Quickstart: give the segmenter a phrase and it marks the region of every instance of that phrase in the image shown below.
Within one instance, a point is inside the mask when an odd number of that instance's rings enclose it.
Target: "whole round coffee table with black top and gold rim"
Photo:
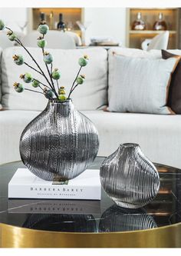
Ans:
[[[100,168],[97,157],[91,168]],[[156,164],[160,191],[144,208],[101,201],[8,199],[8,182],[21,161],[0,166],[0,247],[181,247],[181,170]]]

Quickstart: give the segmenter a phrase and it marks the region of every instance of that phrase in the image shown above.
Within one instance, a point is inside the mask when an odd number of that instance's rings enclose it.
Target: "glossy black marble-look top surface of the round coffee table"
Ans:
[[[90,169],[100,168],[97,157]],[[181,170],[155,164],[160,191],[140,209],[120,208],[102,190],[101,201],[8,199],[8,182],[24,165],[0,166],[0,223],[21,228],[64,232],[139,231],[181,222]],[[91,171],[91,170],[90,170]]]

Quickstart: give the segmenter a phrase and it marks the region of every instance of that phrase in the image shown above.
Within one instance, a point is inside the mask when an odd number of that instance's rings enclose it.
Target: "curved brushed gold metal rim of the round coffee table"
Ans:
[[[181,223],[145,231],[66,233],[0,224],[0,248],[180,248]]]

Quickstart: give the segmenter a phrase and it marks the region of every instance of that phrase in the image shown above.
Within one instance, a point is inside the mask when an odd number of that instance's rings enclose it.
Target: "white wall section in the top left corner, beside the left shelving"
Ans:
[[[21,32],[19,26],[24,25],[28,18],[28,8],[0,8],[0,19],[15,32]]]

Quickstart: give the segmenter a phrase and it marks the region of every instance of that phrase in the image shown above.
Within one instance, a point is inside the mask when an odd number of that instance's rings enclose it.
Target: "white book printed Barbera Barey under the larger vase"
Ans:
[[[44,181],[27,168],[18,168],[8,184],[8,198],[100,200],[98,169],[87,169],[65,182]]]

